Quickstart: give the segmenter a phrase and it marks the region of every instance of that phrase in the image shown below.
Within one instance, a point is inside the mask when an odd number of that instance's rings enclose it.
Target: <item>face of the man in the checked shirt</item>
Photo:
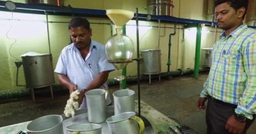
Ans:
[[[240,22],[238,20],[238,12],[230,7],[228,3],[222,3],[216,6],[216,19],[218,27],[224,30],[231,29]]]

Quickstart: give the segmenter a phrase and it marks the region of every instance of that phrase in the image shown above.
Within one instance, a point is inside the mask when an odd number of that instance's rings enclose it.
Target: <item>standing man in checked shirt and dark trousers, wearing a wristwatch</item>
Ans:
[[[207,133],[246,133],[256,114],[256,30],[243,19],[248,0],[217,0],[224,29],[212,50],[212,67],[197,101],[206,107]]]

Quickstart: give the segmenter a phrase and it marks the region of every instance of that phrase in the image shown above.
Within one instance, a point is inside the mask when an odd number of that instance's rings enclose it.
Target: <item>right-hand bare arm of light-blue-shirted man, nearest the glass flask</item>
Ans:
[[[86,89],[84,89],[80,92],[79,98],[78,98],[79,105],[82,104],[82,101],[83,101],[86,91],[95,89],[95,88],[100,88],[100,86],[102,86],[102,84],[104,84],[104,82],[106,82],[106,80],[108,80],[108,71],[100,72],[100,74],[98,74],[94,78],[94,80],[92,80],[92,82],[90,82],[90,84],[88,84],[88,86],[86,86]]]

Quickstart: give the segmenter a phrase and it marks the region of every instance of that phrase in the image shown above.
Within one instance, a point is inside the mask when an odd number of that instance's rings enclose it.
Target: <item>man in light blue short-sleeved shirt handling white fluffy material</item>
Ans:
[[[69,92],[79,90],[79,108],[86,107],[85,92],[94,88],[108,88],[108,73],[115,70],[108,63],[105,48],[91,39],[92,29],[87,19],[75,17],[68,25],[73,43],[61,51],[55,72],[60,84]],[[110,105],[110,96],[106,97],[106,105]]]

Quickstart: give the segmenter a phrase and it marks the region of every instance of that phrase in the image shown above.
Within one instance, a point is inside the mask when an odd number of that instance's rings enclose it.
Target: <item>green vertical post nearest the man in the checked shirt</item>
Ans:
[[[197,39],[196,39],[196,44],[195,44],[194,78],[198,78],[198,76],[199,76],[200,52],[201,52],[201,23],[197,23]]]

